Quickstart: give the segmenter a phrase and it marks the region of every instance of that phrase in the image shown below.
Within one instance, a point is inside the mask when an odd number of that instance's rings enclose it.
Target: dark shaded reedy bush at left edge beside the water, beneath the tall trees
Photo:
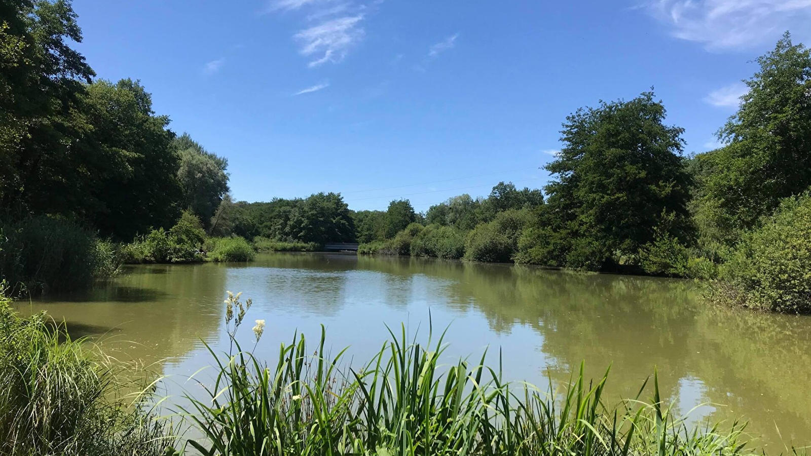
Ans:
[[[8,282],[11,295],[86,288],[118,271],[111,247],[66,219],[0,219],[0,279]]]

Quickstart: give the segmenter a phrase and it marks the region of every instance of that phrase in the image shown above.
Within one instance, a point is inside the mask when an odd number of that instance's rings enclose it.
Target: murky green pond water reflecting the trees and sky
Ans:
[[[87,295],[39,301],[71,331],[105,335],[127,356],[167,359],[182,378],[210,363],[202,341],[225,350],[225,290],[254,300],[268,327],[256,353],[271,356],[298,329],[327,327],[333,348],[365,360],[388,336],[450,325],[448,354],[487,347],[512,380],[565,381],[586,361],[611,365],[609,397],[633,396],[654,368],[660,387],[694,419],[751,420],[749,432],[779,441],[811,438],[811,319],[715,308],[692,282],[566,273],[511,265],[407,257],[273,254],[244,265],[141,265]],[[252,343],[252,342],[250,342]],[[495,355],[497,356],[497,355]],[[496,358],[493,357],[495,362]],[[782,447],[779,447],[782,449]]]

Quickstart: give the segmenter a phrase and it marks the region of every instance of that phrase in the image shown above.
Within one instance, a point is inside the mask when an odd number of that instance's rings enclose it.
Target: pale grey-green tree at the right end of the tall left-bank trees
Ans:
[[[208,152],[198,142],[183,133],[174,139],[180,167],[178,181],[182,187],[181,204],[191,210],[203,225],[210,227],[212,217],[228,191],[228,160]]]

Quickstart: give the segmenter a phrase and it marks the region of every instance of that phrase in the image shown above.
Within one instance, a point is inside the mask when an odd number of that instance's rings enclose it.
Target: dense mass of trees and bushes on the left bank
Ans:
[[[71,3],[0,3],[0,274],[12,292],[70,290],[128,260],[195,260],[189,209],[230,234],[227,161],[152,110],[130,79],[93,80]],[[72,222],[67,222],[72,221]],[[216,225],[215,225],[216,222]],[[174,226],[174,228],[170,228]]]

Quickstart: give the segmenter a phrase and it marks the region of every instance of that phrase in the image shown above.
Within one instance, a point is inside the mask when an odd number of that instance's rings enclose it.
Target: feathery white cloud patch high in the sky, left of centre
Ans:
[[[363,39],[365,32],[358,25],[362,20],[363,15],[339,17],[296,33],[296,40],[302,43],[301,53],[315,58],[307,66],[341,62],[349,49]]]

